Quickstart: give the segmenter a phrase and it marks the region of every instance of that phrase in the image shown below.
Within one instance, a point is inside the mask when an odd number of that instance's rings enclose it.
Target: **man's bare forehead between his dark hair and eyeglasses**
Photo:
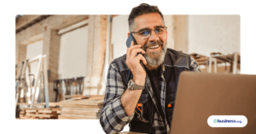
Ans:
[[[157,26],[164,26],[161,16],[158,13],[151,13],[151,14],[143,14],[140,16],[137,16],[134,19],[136,23],[136,30],[139,31],[141,29],[152,29]]]

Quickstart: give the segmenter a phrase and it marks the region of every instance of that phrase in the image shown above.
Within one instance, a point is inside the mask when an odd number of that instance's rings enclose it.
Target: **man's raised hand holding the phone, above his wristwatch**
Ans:
[[[127,64],[128,68],[133,74],[133,81],[135,81],[137,85],[144,86],[146,72],[143,70],[143,67],[140,64],[140,60],[143,61],[143,64],[147,64],[147,62],[142,54],[137,55],[137,53],[145,53],[141,47],[143,46],[134,45],[134,42],[131,42],[131,47],[127,48],[125,64]]]

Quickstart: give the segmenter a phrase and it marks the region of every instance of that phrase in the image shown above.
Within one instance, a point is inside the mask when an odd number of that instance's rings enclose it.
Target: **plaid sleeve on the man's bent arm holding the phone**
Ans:
[[[110,64],[108,68],[107,85],[104,103],[102,106],[100,125],[105,134],[123,131],[134,116],[128,116],[121,103],[121,96],[127,87],[122,81],[116,64]]]

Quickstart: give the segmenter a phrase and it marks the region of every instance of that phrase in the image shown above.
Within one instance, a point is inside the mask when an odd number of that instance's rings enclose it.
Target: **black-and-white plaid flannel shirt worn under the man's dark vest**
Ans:
[[[193,59],[190,56],[191,63],[190,63],[190,69],[195,72],[201,72],[200,68],[198,67],[198,64],[196,63],[195,59]],[[164,71],[165,71],[165,65],[161,64],[161,93],[160,93],[160,100],[161,100],[161,107],[165,114],[165,100],[166,100],[166,81],[164,79]],[[150,80],[148,78],[148,75],[146,77],[146,84],[148,85],[148,93],[151,97],[154,97],[152,87]],[[117,64],[114,64],[113,62],[109,65],[108,69],[108,76],[107,76],[107,85],[106,85],[106,92],[105,92],[105,98],[104,103],[102,106],[101,111],[101,117],[99,120],[99,123],[101,124],[102,131],[106,134],[113,134],[117,133],[119,131],[123,131],[125,129],[125,126],[129,124],[129,122],[133,119],[133,114],[131,116],[128,116],[125,113],[125,109],[123,105],[121,104],[121,96],[125,92],[127,87],[125,87],[125,84],[122,81],[122,76],[119,74],[119,68],[117,67]],[[153,103],[156,105],[155,98],[153,98]],[[159,110],[159,109],[157,109]],[[166,114],[165,114],[166,116]],[[165,117],[166,118],[166,117]],[[170,132],[170,126],[168,126],[166,122],[166,128],[164,126],[164,121],[161,118],[160,114],[157,112],[154,113],[154,123],[153,123],[153,131],[157,134],[162,134],[166,132]]]

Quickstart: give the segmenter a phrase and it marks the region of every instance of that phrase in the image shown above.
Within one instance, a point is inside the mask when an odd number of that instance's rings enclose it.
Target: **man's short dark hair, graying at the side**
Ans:
[[[148,4],[148,3],[139,3],[137,6],[131,8],[129,18],[128,18],[129,31],[131,32],[136,29],[136,24],[134,23],[134,19],[137,16],[143,15],[143,14],[150,14],[150,13],[160,14],[162,21],[165,24],[163,12],[160,10],[158,5]]]

